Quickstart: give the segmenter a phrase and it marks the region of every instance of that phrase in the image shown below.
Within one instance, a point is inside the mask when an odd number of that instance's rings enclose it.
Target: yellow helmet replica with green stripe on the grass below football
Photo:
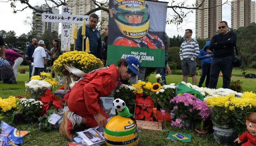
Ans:
[[[137,146],[139,135],[137,125],[131,118],[114,116],[105,127],[107,146]]]

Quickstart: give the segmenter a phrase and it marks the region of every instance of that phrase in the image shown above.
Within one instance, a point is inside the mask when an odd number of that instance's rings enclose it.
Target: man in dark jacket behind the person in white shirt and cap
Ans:
[[[29,64],[29,80],[32,76],[32,71],[33,71],[32,62],[34,62],[34,60],[32,55],[36,47],[37,47],[37,39],[32,39],[32,43],[26,47],[26,51],[25,51],[25,57],[27,59],[27,63]]]

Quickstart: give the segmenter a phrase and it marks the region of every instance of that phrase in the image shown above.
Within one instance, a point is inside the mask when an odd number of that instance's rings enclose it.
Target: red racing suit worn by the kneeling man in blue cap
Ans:
[[[85,74],[65,95],[71,112],[85,117],[87,127],[98,126],[93,115],[100,112],[106,118],[109,115],[100,107],[100,97],[114,93],[118,83],[119,71],[114,64],[107,69]]]

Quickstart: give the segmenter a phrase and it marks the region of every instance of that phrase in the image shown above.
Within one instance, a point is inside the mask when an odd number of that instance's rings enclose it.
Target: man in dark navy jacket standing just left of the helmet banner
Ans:
[[[101,34],[100,31],[96,28],[98,24],[98,15],[91,14],[89,16],[89,24],[85,26],[85,37],[88,37],[90,44],[90,54],[93,54],[97,58],[102,59],[101,55]],[[77,31],[77,39],[76,39],[76,50],[82,51],[82,26]],[[85,38],[84,38],[85,39]],[[86,42],[84,41],[84,46]],[[84,49],[85,50],[85,49]]]

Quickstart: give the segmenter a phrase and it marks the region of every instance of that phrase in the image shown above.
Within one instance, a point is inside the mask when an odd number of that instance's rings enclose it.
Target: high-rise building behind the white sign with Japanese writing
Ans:
[[[44,13],[53,13],[53,14],[59,14],[60,10],[55,8],[49,8],[46,4],[42,4],[41,6],[35,6],[38,10],[49,10],[48,12]],[[56,31],[59,30],[59,23],[57,22],[42,22],[41,13],[36,12],[33,10],[33,17],[32,17],[32,30],[36,33],[36,36],[42,36],[42,34],[45,33],[46,30]]]

